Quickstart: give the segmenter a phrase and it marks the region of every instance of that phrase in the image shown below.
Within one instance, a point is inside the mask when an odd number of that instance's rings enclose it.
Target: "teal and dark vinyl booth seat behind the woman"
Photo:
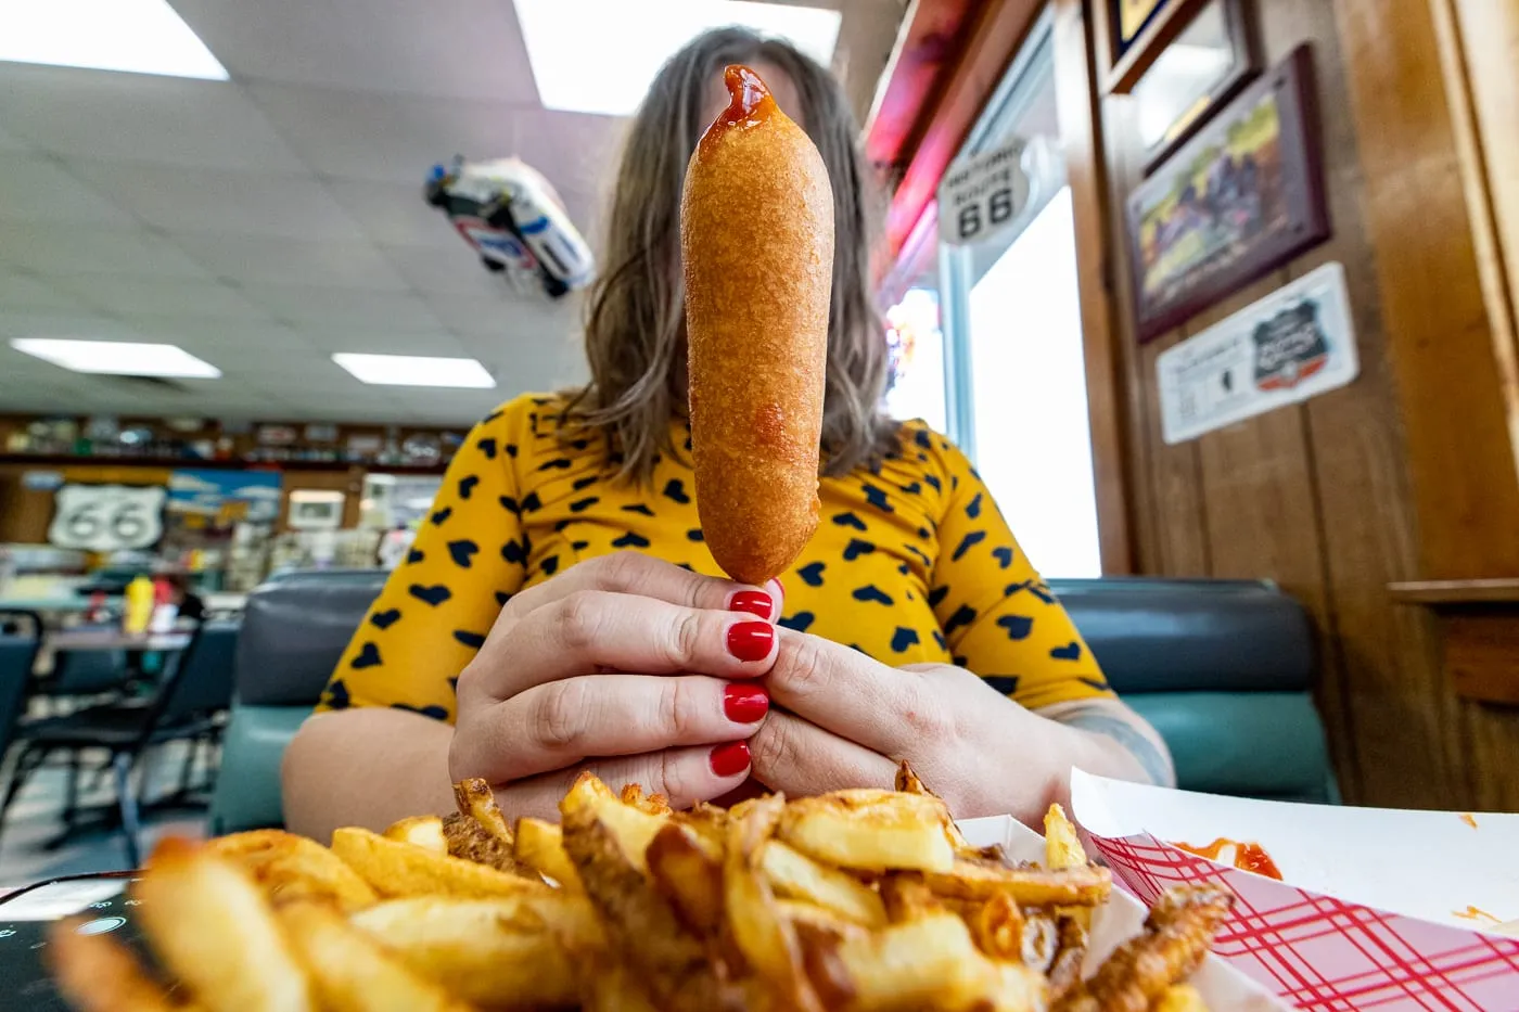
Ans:
[[[296,573],[248,600],[211,831],[281,824],[279,760],[386,573]],[[1271,583],[1051,580],[1126,702],[1165,737],[1179,786],[1335,802],[1312,702],[1308,615]]]

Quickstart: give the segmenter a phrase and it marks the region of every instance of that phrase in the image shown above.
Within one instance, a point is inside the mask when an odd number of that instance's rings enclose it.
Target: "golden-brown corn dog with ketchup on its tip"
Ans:
[[[834,202],[807,134],[747,67],[681,202],[691,456],[708,549],[735,580],[784,571],[817,527]]]

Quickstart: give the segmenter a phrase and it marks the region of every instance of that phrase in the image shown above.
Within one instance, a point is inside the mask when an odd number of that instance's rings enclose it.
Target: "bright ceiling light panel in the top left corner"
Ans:
[[[169,0],[0,0],[0,59],[226,81]]]

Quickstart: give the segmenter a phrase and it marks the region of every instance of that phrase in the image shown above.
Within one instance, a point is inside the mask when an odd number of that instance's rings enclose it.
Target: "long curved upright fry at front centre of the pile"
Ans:
[[[796,930],[781,915],[770,883],[761,872],[761,854],[784,810],[785,796],[770,795],[728,825],[723,863],[728,933],[749,969],[778,995],[781,1007],[822,1012],[823,1004],[802,962]]]

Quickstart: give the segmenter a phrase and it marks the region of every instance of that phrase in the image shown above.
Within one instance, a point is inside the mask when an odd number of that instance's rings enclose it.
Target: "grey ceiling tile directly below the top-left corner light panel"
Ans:
[[[94,161],[301,172],[299,158],[226,81],[0,64],[0,115],[35,147]]]

